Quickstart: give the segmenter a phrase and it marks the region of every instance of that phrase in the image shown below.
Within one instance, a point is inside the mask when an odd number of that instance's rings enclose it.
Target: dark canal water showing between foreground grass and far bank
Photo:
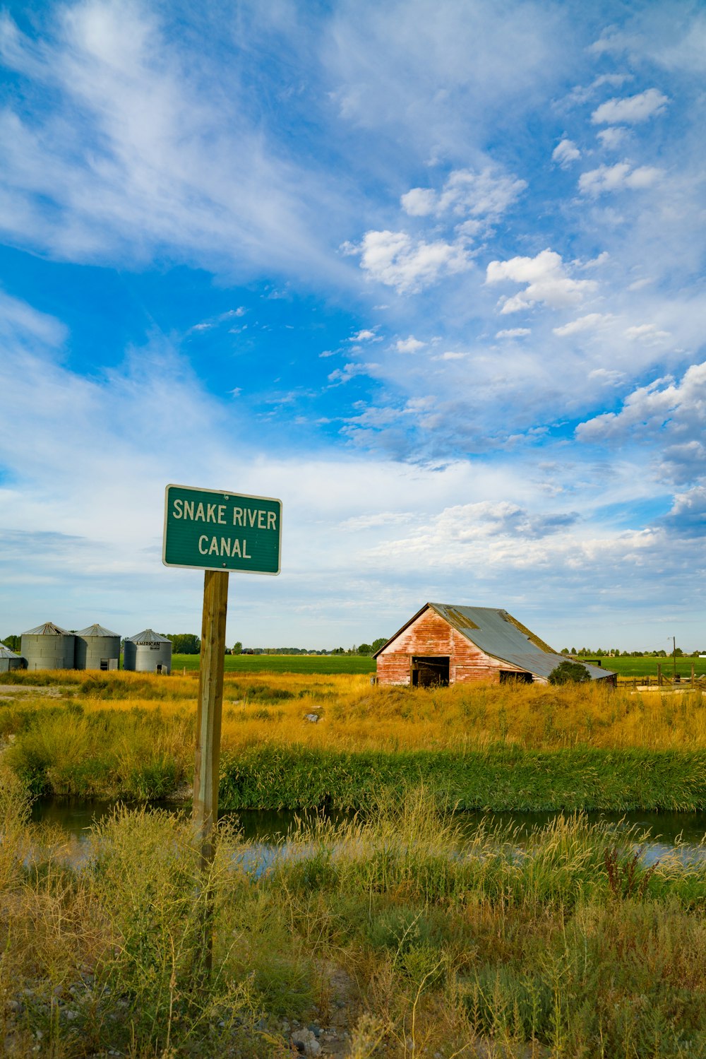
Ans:
[[[32,808],[33,821],[54,824],[78,841],[86,840],[92,825],[99,822],[114,810],[114,802],[77,802],[67,798],[40,798]],[[169,812],[189,810],[175,807],[174,804],[156,806]],[[241,829],[243,838],[258,845],[274,846],[286,838],[287,832],[295,826],[296,820],[314,820],[315,813],[307,816],[302,811],[293,810],[248,810],[227,814]],[[559,812],[463,812],[454,818],[454,823],[460,826],[463,833],[469,840],[483,821],[486,824],[499,824],[503,827],[517,829],[519,843],[532,828],[543,827],[550,823]],[[676,844],[691,848],[701,846],[701,852],[706,856],[706,812],[589,812],[591,823],[603,821],[619,825],[628,830],[649,831],[650,839],[646,843],[648,859],[663,856],[673,849]],[[327,815],[325,819],[333,823],[349,820],[345,813]],[[651,856],[650,856],[651,855]]]

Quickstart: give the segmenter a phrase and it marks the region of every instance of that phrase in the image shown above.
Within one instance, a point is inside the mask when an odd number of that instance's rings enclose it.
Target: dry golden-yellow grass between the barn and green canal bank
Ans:
[[[168,680],[123,672],[95,680],[76,674],[71,680],[77,686],[65,686],[85,716],[158,711],[165,750],[171,751],[193,723],[196,674]],[[57,704],[43,689],[36,692],[34,708]],[[25,708],[30,704],[24,697],[16,700],[20,702]],[[305,720],[307,714],[316,714],[319,721]],[[78,729],[80,718],[75,723]],[[237,675],[224,681],[225,750],[263,743],[347,751],[472,750],[497,742],[532,749],[706,748],[706,702],[698,689],[673,695],[585,684],[411,690],[370,686],[366,676],[301,674]]]

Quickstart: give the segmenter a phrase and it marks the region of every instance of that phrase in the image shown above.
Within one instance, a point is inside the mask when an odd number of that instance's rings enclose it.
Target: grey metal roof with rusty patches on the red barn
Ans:
[[[497,610],[494,607],[461,607],[448,603],[424,604],[421,610],[387,641],[387,644],[396,640],[400,632],[403,632],[428,607],[432,607],[486,654],[501,662],[509,662],[510,665],[518,666],[536,677],[546,679],[560,662],[567,660],[566,654],[559,654],[553,650],[506,610]],[[384,644],[380,651],[384,650],[387,644]],[[380,651],[376,651],[374,658],[377,658]],[[592,680],[613,676],[612,670],[603,669],[601,666],[589,665],[586,662],[581,664],[585,666]]]

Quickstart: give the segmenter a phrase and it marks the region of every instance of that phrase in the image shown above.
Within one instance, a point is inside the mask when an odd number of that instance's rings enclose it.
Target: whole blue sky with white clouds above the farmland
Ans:
[[[689,2],[6,4],[0,634],[197,631],[176,482],[283,500],[233,641],[706,648],[705,68]]]

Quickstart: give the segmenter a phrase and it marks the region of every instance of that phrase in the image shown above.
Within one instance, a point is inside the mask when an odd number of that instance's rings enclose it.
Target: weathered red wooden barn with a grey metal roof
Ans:
[[[546,684],[567,656],[553,650],[506,610],[426,603],[374,658],[379,683],[429,687],[479,680]],[[585,669],[592,680],[616,681],[610,669]]]

